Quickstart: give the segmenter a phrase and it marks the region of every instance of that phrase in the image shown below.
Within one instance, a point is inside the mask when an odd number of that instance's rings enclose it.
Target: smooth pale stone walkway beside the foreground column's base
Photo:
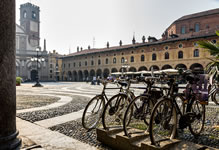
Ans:
[[[96,150],[97,148],[78,140],[65,136],[59,132],[51,131],[34,123],[17,118],[19,137],[26,146],[34,150]]]

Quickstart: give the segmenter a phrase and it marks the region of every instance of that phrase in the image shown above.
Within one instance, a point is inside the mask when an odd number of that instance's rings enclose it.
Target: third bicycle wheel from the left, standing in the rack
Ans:
[[[153,104],[148,96],[137,96],[132,100],[125,112],[123,120],[125,135],[132,137],[136,134],[144,134],[149,127],[152,109]]]

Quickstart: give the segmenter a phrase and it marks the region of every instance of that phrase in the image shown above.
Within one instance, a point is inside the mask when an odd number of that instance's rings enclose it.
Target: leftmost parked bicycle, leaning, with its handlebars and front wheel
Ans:
[[[124,86],[121,85],[119,88],[106,88],[106,85],[112,82],[108,82],[105,80],[100,80],[100,82],[103,84],[101,94],[96,95],[88,102],[82,115],[82,126],[87,130],[95,129],[102,117],[105,104],[107,101],[109,101],[108,97],[106,96],[105,90],[119,89],[119,91],[121,92]]]

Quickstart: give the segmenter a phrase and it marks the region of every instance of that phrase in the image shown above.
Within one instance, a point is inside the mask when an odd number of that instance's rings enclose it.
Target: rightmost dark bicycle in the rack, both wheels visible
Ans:
[[[205,105],[200,104],[200,95],[193,91],[194,84],[197,84],[197,79],[190,78],[187,85],[187,99],[183,101],[185,112],[182,112],[176,102],[175,93],[178,92],[178,84],[174,79],[169,80],[168,95],[161,98],[152,110],[149,124],[152,145],[160,146],[161,142],[174,139],[178,125],[180,129],[189,127],[194,136],[201,133],[205,122]],[[177,120],[178,116],[180,117],[179,121]]]

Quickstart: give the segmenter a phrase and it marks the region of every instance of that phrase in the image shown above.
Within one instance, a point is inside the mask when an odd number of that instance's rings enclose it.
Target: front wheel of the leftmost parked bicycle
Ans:
[[[102,95],[97,95],[88,102],[82,116],[82,125],[85,129],[90,130],[96,128],[104,107],[105,100]]]

